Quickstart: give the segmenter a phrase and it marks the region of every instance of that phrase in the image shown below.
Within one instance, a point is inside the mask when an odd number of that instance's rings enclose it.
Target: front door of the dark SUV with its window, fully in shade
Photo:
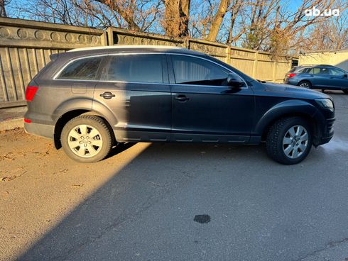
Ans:
[[[215,62],[190,55],[170,56],[171,140],[248,142],[254,119],[253,91],[246,85],[228,87],[231,72]]]

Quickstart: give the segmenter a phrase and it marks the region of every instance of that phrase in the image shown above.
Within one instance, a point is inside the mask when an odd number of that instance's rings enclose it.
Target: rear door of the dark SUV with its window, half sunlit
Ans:
[[[118,141],[169,140],[171,96],[165,55],[109,55],[93,110],[107,115]]]

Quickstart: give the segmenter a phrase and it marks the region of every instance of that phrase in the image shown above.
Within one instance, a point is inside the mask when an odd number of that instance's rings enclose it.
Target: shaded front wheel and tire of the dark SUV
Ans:
[[[299,127],[302,127],[303,131]],[[291,129],[295,136],[291,135]],[[312,134],[310,126],[301,117],[281,118],[273,123],[268,130],[266,150],[268,156],[276,162],[285,165],[297,164],[307,157],[311,147]]]

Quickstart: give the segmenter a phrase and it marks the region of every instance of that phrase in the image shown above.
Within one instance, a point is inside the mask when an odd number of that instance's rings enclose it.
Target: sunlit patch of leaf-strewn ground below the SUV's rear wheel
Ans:
[[[2,131],[0,260],[13,260],[27,250],[146,146],[135,145],[117,160],[83,165],[22,128]]]

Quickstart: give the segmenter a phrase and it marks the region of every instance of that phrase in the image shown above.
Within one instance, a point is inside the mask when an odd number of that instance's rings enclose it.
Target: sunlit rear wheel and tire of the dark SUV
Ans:
[[[62,148],[77,162],[97,162],[107,157],[112,148],[112,135],[107,124],[97,116],[72,118],[60,135]]]

